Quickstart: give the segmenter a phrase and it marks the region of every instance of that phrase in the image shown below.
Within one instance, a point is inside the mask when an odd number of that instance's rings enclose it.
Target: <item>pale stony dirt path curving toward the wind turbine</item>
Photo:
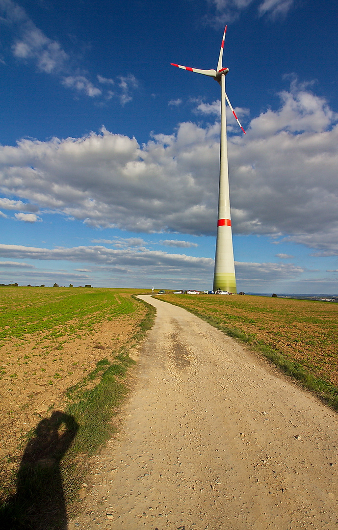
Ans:
[[[77,528],[337,530],[337,415],[209,324],[150,296],[119,441]]]

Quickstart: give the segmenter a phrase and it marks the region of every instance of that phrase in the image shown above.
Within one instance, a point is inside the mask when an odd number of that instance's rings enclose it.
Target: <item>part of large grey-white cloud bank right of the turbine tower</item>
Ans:
[[[247,139],[230,143],[234,226],[327,248],[338,234],[337,114],[295,82],[280,98],[277,111],[251,121]]]

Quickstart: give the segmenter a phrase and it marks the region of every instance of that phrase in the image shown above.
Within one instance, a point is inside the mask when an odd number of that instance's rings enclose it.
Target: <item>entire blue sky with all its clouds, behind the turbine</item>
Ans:
[[[0,0],[0,283],[338,294],[338,4]]]

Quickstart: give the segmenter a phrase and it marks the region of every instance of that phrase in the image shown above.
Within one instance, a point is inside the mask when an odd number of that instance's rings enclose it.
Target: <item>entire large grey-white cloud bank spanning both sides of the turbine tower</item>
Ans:
[[[295,78],[279,96],[279,108],[252,119],[246,137],[236,123],[238,134],[228,136],[233,231],[336,253],[338,115]],[[180,123],[144,145],[104,128],[82,138],[24,139],[0,146],[2,207],[32,211],[21,201],[93,227],[210,235],[218,165],[218,119]]]

